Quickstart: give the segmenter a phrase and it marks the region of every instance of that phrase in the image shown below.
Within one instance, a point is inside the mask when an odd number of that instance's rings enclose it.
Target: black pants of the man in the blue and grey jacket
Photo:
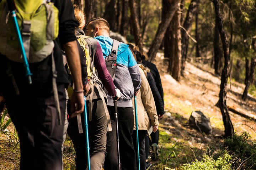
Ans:
[[[120,159],[122,170],[136,169],[136,156],[133,147],[133,107],[118,107],[118,132]],[[107,155],[105,158],[105,170],[118,170],[116,123],[114,107],[108,106],[112,131],[107,133]],[[136,145],[136,144],[135,144]]]

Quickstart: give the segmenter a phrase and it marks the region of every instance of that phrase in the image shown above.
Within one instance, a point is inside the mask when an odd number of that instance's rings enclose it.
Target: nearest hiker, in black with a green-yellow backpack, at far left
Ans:
[[[29,53],[27,57],[33,74],[32,84],[25,77],[14,25],[6,24],[6,22],[13,23],[11,14],[6,21],[8,6],[6,1],[1,1],[0,79],[4,83],[0,84],[0,92],[5,98],[8,113],[20,138],[20,169],[62,170],[61,146],[66,108],[64,88],[69,81],[63,66],[61,47],[66,52],[75,85],[71,98],[71,117],[80,114],[84,109],[81,67],[74,35],[74,28],[77,26],[74,9],[70,0],[54,0],[56,8],[52,3],[42,4],[44,3],[42,1],[15,0],[14,2],[17,7],[18,23],[23,23],[27,28],[21,29],[22,37],[24,40],[30,40],[23,44],[26,45],[24,45],[26,53]],[[41,5],[48,8],[40,8]],[[30,18],[31,12],[28,11],[31,10],[41,15],[40,17],[33,15],[30,29],[29,21],[23,22],[20,16]],[[59,15],[54,15],[58,11]],[[47,19],[41,21],[41,17],[45,14]],[[11,37],[12,41],[4,41],[6,37]],[[44,38],[50,43],[47,44],[48,46],[45,46]],[[43,47],[45,47],[44,51],[39,51]],[[57,83],[55,73],[57,73]],[[55,89],[56,84],[57,89]]]

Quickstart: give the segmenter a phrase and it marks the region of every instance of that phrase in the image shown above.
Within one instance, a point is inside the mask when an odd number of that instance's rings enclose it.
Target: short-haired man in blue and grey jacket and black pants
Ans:
[[[110,26],[106,19],[94,18],[88,22],[86,34],[95,37],[102,47],[104,58],[110,53],[113,39],[109,37]],[[134,92],[138,92],[141,85],[141,75],[139,66],[133,58],[132,51],[128,45],[119,43],[117,51],[117,67],[114,77],[114,85],[121,91],[118,106],[118,132],[120,145],[120,159],[122,170],[136,169],[136,156],[133,147],[133,105],[132,98]],[[110,113],[112,131],[107,133],[107,154],[104,169],[117,170],[117,144],[116,125],[114,119],[114,104],[111,96],[108,95],[107,103]]]

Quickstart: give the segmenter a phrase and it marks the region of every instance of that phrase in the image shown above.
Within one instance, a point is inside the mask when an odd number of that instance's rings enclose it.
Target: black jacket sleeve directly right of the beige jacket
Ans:
[[[153,97],[154,97],[156,111],[157,111],[158,115],[163,115],[165,113],[164,112],[164,104],[162,102],[161,95],[159,94],[158,88],[156,87],[155,81],[150,72],[147,74],[146,78],[148,80],[150,89],[151,89]]]

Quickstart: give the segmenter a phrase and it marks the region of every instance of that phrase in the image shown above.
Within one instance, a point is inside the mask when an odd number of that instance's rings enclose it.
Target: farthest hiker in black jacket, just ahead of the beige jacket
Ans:
[[[162,104],[160,103],[160,105],[163,105],[163,107],[161,106],[158,106],[158,119],[161,119],[162,116],[164,115],[164,92],[163,92],[163,89],[162,89],[162,83],[161,83],[161,77],[160,77],[160,74],[159,74],[159,71],[158,69],[156,68],[155,64],[154,63],[151,63],[149,61],[146,61],[146,59],[148,58],[148,56],[146,55],[145,51],[142,49],[142,47],[140,46],[135,46],[133,48],[134,51],[139,51],[142,55],[142,61],[141,63],[150,69],[150,74],[152,75],[154,81],[155,81],[155,85],[159,91],[159,94],[161,96],[161,99],[162,99]],[[151,89],[152,90],[152,89]],[[153,91],[153,90],[152,90]],[[156,102],[156,101],[155,101]],[[158,102],[156,102],[158,103]],[[156,104],[157,105],[157,104]],[[161,111],[160,111],[161,110]],[[150,137],[151,137],[151,149],[152,149],[152,153],[151,153],[151,159],[152,160],[157,160],[158,159],[158,141],[159,141],[159,130],[157,130],[156,132],[152,132],[150,134]],[[149,143],[149,138],[146,137],[146,145],[147,143]]]

